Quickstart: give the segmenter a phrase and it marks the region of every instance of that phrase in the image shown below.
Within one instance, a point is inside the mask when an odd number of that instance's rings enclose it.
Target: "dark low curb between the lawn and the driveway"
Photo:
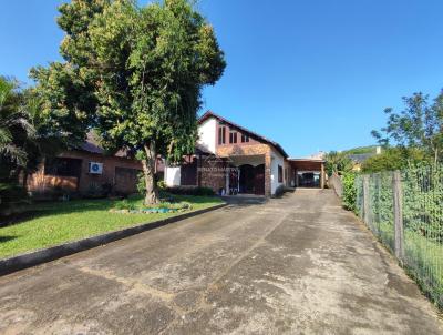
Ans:
[[[153,221],[150,223],[142,223],[136,226],[131,226],[127,229],[123,229],[121,231],[114,231],[110,233],[105,233],[102,235],[95,235],[91,237],[86,237],[79,241],[68,242],[64,244],[51,246],[48,248],[39,250],[35,252],[30,252],[27,254],[3,258],[0,260],[0,276],[13,273],[16,271],[20,271],[23,268],[28,268],[31,266],[35,266],[39,264],[48,263],[51,261],[55,261],[58,258],[69,256],[85,250],[90,250],[103,244],[107,244],[110,242],[119,241],[132,235],[136,235],[146,231],[151,231],[169,223],[174,223],[181,220],[189,219],[199,214],[204,214],[207,212],[212,212],[215,210],[219,210],[226,206],[227,203],[215,205],[208,209],[203,209],[185,214],[179,214],[176,216]]]

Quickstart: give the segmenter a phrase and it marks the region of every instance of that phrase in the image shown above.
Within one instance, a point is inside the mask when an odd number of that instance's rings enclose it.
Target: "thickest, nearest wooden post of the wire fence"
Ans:
[[[400,260],[400,262],[403,262],[404,235],[403,235],[402,186],[401,186],[400,171],[394,171],[392,175],[392,201],[394,211],[395,256]]]

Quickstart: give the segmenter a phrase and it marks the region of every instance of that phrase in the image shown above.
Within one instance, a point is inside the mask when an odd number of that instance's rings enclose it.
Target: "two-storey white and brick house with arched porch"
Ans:
[[[297,162],[280,144],[212,111],[199,120],[194,154],[178,166],[165,168],[168,186],[208,186],[218,194],[272,196],[296,186]]]

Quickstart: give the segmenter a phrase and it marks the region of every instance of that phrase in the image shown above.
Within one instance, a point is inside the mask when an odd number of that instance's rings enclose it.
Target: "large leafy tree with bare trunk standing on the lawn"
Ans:
[[[61,106],[62,120],[96,126],[107,149],[138,152],[145,203],[156,203],[156,156],[194,149],[202,89],[225,69],[213,28],[186,0],[73,0],[60,11],[65,62],[35,73],[59,94],[48,91],[50,113]]]

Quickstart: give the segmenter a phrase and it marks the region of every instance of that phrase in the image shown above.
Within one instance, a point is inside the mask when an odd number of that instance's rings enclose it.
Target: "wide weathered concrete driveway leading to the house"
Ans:
[[[0,277],[1,334],[443,334],[331,191],[231,205]]]

